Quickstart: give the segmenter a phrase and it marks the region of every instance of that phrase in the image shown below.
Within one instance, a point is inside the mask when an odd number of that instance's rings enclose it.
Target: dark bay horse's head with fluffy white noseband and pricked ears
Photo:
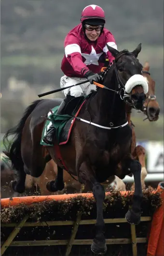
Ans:
[[[120,82],[120,86],[129,95],[125,95],[124,100],[127,104],[132,105],[136,109],[143,109],[146,93],[148,93],[148,81],[142,76],[142,65],[137,60],[137,56],[141,51],[141,44],[137,48],[129,52],[118,50],[108,46],[109,51],[115,57],[116,77]]]

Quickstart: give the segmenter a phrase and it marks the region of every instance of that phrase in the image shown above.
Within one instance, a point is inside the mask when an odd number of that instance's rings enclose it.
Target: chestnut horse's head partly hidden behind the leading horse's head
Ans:
[[[149,62],[145,62],[145,65],[142,70],[142,74],[148,80],[149,90],[148,90],[148,93],[146,94],[146,100],[144,103],[143,112],[145,115],[147,115],[150,121],[156,121],[159,118],[160,106],[156,101],[155,81],[151,78],[149,69],[150,69]]]

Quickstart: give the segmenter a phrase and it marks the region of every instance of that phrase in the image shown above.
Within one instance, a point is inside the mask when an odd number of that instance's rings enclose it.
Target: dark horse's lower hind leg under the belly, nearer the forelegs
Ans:
[[[50,192],[56,192],[58,190],[64,189],[64,181],[63,181],[63,169],[57,166],[57,176],[55,181],[48,181],[46,184],[46,188]]]

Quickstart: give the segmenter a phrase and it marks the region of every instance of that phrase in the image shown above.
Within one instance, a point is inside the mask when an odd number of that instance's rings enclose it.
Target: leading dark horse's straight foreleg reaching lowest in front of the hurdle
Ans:
[[[79,170],[79,178],[86,184],[89,184],[96,200],[97,218],[96,218],[96,236],[91,245],[91,250],[95,254],[105,254],[107,251],[104,237],[104,219],[103,219],[103,202],[105,199],[105,190],[99,182],[96,181],[92,169],[83,163]]]

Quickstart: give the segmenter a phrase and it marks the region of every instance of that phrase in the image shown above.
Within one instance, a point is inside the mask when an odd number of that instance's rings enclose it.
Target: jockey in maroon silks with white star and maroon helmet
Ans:
[[[74,97],[86,96],[91,90],[96,90],[93,82],[100,82],[101,68],[106,58],[112,63],[114,57],[109,52],[106,44],[117,49],[112,33],[104,28],[105,14],[103,9],[95,4],[86,6],[82,11],[81,23],[69,31],[65,38],[65,56],[61,63],[64,76],[60,79],[60,87],[82,82],[88,82],[63,90],[66,98],[59,106],[56,114],[62,110]],[[53,144],[55,127],[50,126],[44,141]]]

